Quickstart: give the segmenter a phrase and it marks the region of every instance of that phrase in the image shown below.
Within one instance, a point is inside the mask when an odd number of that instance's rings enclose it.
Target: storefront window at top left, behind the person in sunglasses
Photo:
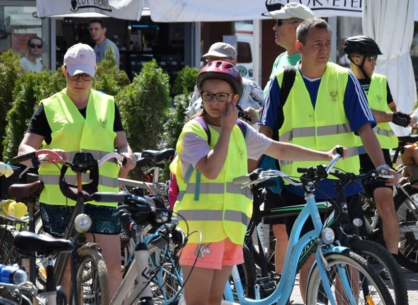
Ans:
[[[12,49],[23,57],[27,52],[27,40],[38,36],[43,41],[42,66],[50,69],[49,36],[46,20],[37,18],[36,6],[0,5],[0,51]],[[45,35],[43,35],[45,34]]]

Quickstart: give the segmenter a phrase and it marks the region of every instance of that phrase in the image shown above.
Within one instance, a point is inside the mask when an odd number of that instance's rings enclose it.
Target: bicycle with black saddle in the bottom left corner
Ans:
[[[46,264],[46,285],[44,289],[40,290],[30,281],[19,284],[0,283],[1,304],[68,304],[64,290],[61,286],[56,286],[53,261],[57,253],[73,251],[74,244],[69,240],[54,239],[46,235],[23,231],[16,234],[13,245],[23,255],[34,255]]]

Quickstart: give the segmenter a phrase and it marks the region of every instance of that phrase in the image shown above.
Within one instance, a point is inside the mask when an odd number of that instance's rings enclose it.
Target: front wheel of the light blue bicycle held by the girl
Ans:
[[[369,264],[367,264],[366,260],[363,259],[360,255],[352,251],[347,251],[343,253],[327,253],[324,256],[328,262],[327,267],[329,267],[329,269],[327,268],[328,280],[330,281],[330,284],[332,286],[331,289],[334,294],[334,297],[336,296],[339,297],[338,298],[339,304],[341,305],[352,304],[350,301],[353,301],[353,302],[356,301],[356,303],[359,305],[363,305],[363,304],[393,305],[394,304],[391,294],[388,291],[388,288],[386,287],[385,283],[382,281],[380,276],[377,274],[376,270],[373,267],[371,267]],[[346,296],[342,295],[342,292],[339,291],[338,287],[336,288],[335,278],[336,278],[336,275],[339,273],[339,271],[337,271],[337,268],[339,268],[340,271],[341,270],[344,271],[344,273],[351,278],[352,282],[353,280],[355,280],[350,276],[350,271],[352,274],[352,270],[357,270],[359,274],[358,279],[367,279],[367,281],[362,280],[358,286],[350,285],[351,287],[354,286],[355,288],[360,288],[358,293],[353,292],[351,290],[351,293],[354,293],[354,295],[357,296],[356,300],[347,300]],[[348,269],[350,271],[348,271]],[[363,295],[361,292],[364,290],[363,283],[368,283],[367,288],[369,290],[369,293],[367,293],[367,296],[370,296],[372,298],[372,302],[374,303],[367,303],[366,300],[359,297],[359,295]],[[319,304],[328,304],[328,303],[329,303],[328,298],[326,294],[324,293],[322,280],[319,275],[318,266],[315,265],[308,279],[308,286],[306,289],[306,304],[319,305]]]

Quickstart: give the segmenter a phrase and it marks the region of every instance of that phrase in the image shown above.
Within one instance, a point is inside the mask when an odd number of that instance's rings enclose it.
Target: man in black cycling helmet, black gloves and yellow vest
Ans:
[[[373,128],[387,167],[392,166],[389,150],[397,147],[398,139],[388,122],[406,127],[411,121],[408,114],[399,111],[393,101],[386,76],[374,73],[376,59],[382,52],[377,43],[370,37],[359,35],[348,37],[344,41],[344,52],[351,61],[353,71],[366,92],[368,105],[376,119]],[[360,171],[368,172],[375,167],[359,139]],[[374,198],[376,208],[382,218],[383,237],[388,250],[396,257],[399,243],[399,222],[393,203],[393,187],[383,181],[364,185],[366,194]]]

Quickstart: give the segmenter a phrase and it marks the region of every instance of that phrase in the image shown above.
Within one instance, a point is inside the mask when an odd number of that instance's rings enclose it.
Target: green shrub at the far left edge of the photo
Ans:
[[[13,88],[20,76],[20,58],[12,50],[7,50],[0,55],[0,136],[6,136],[6,113],[13,103]],[[0,146],[0,158],[3,158],[3,147]],[[1,160],[1,159],[0,159]]]

